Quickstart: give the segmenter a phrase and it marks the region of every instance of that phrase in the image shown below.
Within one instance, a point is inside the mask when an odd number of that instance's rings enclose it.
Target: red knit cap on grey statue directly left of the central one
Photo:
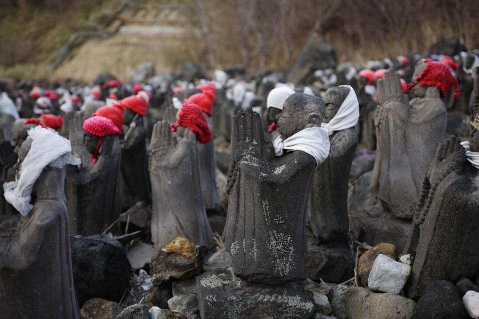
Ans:
[[[210,127],[206,120],[205,114],[196,104],[185,102],[178,115],[177,124],[171,124],[171,131],[176,132],[176,129],[181,125],[189,128],[198,135],[198,142],[201,144],[209,143],[212,139]]]

